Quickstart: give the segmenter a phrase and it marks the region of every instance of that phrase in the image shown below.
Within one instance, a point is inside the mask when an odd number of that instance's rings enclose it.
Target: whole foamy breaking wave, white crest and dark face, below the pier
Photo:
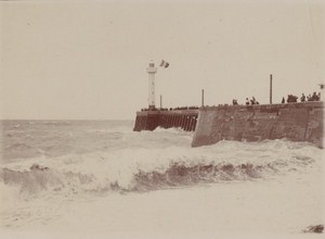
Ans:
[[[20,196],[150,191],[299,174],[317,168],[321,156],[321,149],[286,140],[119,149],[10,163],[1,167],[0,181]]]

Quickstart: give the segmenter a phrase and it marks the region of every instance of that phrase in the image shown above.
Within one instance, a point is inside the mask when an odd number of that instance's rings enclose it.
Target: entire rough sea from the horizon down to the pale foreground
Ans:
[[[191,148],[131,121],[1,121],[5,231],[287,232],[323,224],[323,150],[286,139]]]

